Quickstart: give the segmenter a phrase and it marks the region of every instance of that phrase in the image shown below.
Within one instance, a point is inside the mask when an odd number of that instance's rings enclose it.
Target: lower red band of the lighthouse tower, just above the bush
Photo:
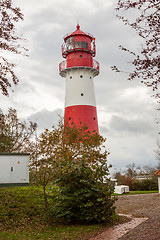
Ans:
[[[88,127],[90,132],[98,131],[97,109],[89,105],[75,105],[65,108],[64,113],[65,124],[74,124],[80,128],[83,125]]]

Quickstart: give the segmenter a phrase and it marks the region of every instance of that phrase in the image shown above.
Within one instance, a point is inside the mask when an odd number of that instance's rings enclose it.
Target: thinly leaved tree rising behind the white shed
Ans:
[[[4,113],[0,108],[0,152],[30,152],[36,128],[37,124],[32,121],[21,121],[16,109],[9,108]]]

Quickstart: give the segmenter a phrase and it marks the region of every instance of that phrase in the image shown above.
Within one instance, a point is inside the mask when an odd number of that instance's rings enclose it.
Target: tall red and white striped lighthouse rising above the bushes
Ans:
[[[94,77],[99,74],[99,63],[95,55],[95,38],[77,24],[73,33],[64,36],[62,56],[66,60],[59,64],[59,73],[66,79],[64,124],[86,125],[98,133]]]

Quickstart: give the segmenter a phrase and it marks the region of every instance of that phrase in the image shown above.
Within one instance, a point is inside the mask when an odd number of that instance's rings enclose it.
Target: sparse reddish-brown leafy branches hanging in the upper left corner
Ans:
[[[14,72],[15,64],[5,57],[6,52],[24,54],[27,49],[20,42],[24,39],[16,35],[15,25],[23,20],[20,8],[15,7],[12,0],[0,1],[0,90],[3,95],[9,96],[8,89],[12,83],[17,85],[19,80]]]

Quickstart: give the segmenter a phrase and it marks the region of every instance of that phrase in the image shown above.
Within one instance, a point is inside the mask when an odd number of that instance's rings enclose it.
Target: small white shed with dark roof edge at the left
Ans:
[[[0,185],[29,184],[29,153],[0,153]]]

